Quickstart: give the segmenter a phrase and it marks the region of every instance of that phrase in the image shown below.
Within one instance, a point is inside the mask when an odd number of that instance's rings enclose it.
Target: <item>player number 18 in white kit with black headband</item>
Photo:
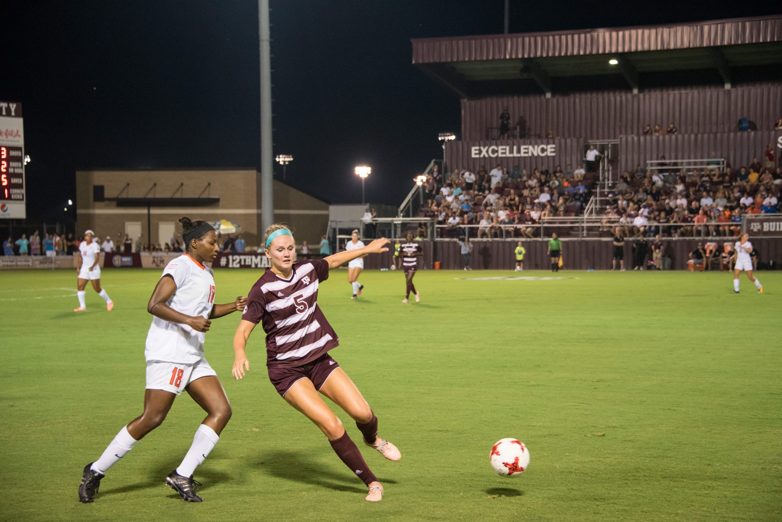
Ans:
[[[149,327],[144,356],[146,391],[144,413],[123,427],[103,454],[84,467],[79,486],[79,501],[92,502],[106,470],[133,448],[139,439],[160,426],[174,399],[186,390],[206,411],[206,418],[195,431],[192,445],[179,467],[166,477],[166,484],[188,502],[203,502],[195,492],[195,467],[203,463],[220,439],[231,418],[231,405],[203,352],[203,341],[211,319],[227,316],[245,307],[246,299],[224,305],[214,303],[214,277],[210,263],[220,251],[217,232],[202,220],[182,223],[186,253],[163,270],[147,311],[154,317]]]

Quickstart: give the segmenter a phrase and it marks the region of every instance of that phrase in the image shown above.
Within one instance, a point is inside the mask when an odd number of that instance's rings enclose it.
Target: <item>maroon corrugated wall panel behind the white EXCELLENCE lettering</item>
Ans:
[[[515,156],[511,158],[473,158],[471,148],[473,146],[490,145],[508,145],[510,150],[513,147],[521,145],[556,145],[556,156]],[[497,140],[497,141],[449,141],[446,145],[447,168],[450,171],[454,169],[469,169],[477,171],[480,166],[485,166],[486,170],[491,170],[497,164],[508,169],[518,165],[528,172],[533,169],[554,170],[554,167],[561,165],[563,169],[570,163],[573,168],[581,164],[583,159],[583,139],[582,138],[554,138],[539,140]],[[518,152],[518,148],[517,148]]]

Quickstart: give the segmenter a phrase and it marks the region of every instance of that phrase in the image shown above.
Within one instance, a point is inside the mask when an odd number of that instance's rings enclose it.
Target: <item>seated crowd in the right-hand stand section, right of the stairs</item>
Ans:
[[[737,236],[741,216],[779,208],[782,167],[775,166],[770,144],[764,159],[765,165],[755,158],[748,167],[724,172],[717,166],[666,168],[665,162],[658,170],[638,166],[622,173],[608,194],[601,230],[612,231],[618,222],[623,237]]]

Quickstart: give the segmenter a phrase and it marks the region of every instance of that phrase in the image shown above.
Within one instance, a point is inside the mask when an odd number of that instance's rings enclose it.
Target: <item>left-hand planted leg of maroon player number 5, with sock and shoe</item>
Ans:
[[[337,370],[339,370],[339,368],[334,370],[334,372]],[[328,377],[326,383],[332,380],[334,372]],[[332,445],[332,448],[337,456],[339,456],[339,459],[341,459],[357,477],[361,478],[361,480],[364,481],[364,484],[367,484],[367,487],[369,488],[367,500],[379,500],[377,498],[378,492],[380,498],[382,498],[382,486],[380,486],[377,477],[375,477],[375,474],[369,469],[367,463],[364,461],[364,457],[361,456],[361,452],[350,439],[342,421],[339,420],[339,417],[337,417],[335,413],[332,412],[332,409],[326,405],[321,398],[321,395],[315,389],[314,384],[312,384],[312,381],[306,377],[296,381],[289,388],[288,392],[285,393],[284,399],[285,402],[288,402],[291,406],[298,409],[320,428],[326,438],[328,438],[328,442]],[[378,486],[380,487],[378,488]]]

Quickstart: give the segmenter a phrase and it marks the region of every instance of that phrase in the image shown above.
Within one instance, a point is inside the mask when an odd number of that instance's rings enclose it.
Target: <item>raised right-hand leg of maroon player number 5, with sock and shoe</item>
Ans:
[[[320,391],[356,421],[356,427],[364,434],[366,445],[378,450],[386,459],[399,460],[402,457],[395,445],[377,436],[378,417],[372,413],[364,396],[342,368],[332,371]]]

